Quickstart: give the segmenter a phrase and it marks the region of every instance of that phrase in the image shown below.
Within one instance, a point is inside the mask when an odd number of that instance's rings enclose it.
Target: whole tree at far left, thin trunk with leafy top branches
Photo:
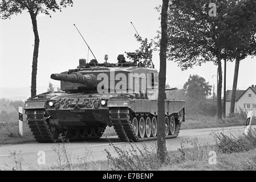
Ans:
[[[36,95],[36,73],[39,52],[39,34],[36,17],[42,12],[51,17],[49,11],[62,11],[62,7],[72,6],[72,3],[72,0],[60,0],[59,3],[48,0],[2,0],[0,2],[2,19],[10,18],[11,15],[17,15],[22,13],[22,11],[28,11],[32,20],[35,40],[32,58],[31,97]]]

